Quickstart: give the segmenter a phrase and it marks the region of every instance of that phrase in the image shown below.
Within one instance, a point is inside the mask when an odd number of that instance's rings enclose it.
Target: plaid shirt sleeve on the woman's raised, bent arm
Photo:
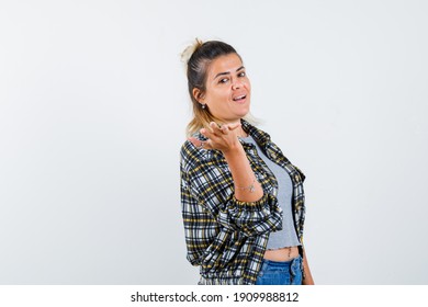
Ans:
[[[189,189],[187,198],[193,198],[221,227],[247,237],[282,229],[282,209],[274,195],[264,191],[256,202],[236,200],[227,162],[191,143],[185,143],[181,150],[181,178],[182,185]]]

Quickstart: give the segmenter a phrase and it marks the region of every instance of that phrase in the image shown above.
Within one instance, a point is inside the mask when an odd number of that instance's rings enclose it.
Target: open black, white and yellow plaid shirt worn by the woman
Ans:
[[[294,225],[302,242],[304,174],[284,157],[267,133],[246,121],[241,124],[266,156],[290,174]],[[196,137],[205,139],[201,134]],[[181,206],[187,258],[192,265],[201,266],[200,284],[255,284],[269,234],[282,228],[277,179],[254,145],[243,143],[243,147],[264,192],[257,202],[235,198],[232,173],[222,151],[200,149],[190,141],[181,148]]]

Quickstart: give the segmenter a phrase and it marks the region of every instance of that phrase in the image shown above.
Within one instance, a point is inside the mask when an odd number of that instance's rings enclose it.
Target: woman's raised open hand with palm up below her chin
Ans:
[[[238,140],[238,127],[240,127],[240,123],[218,126],[216,123],[211,122],[206,129],[202,128],[200,130],[207,140],[202,141],[194,137],[190,137],[189,140],[199,148],[218,149],[226,154],[240,146]]]

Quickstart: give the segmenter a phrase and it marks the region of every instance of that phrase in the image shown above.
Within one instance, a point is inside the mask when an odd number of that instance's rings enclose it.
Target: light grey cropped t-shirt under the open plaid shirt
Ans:
[[[267,249],[300,246],[301,243],[297,239],[292,216],[291,200],[293,196],[293,184],[289,173],[279,164],[269,160],[251,136],[244,137],[241,140],[256,146],[257,154],[264,161],[278,181],[277,198],[282,208],[282,230],[270,234]]]

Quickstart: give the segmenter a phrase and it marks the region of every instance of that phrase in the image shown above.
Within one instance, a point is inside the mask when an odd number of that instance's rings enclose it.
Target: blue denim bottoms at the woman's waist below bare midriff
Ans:
[[[302,257],[290,261],[263,259],[256,285],[301,285]]]

